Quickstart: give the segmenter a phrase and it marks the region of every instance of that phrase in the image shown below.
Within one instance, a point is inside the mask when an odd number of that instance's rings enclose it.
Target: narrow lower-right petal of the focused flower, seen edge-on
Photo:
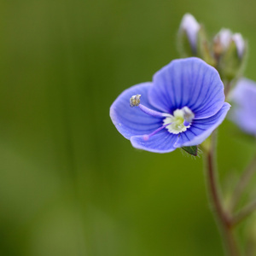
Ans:
[[[180,148],[186,146],[195,146],[202,143],[211,135],[212,131],[214,131],[218,125],[223,122],[229,109],[230,104],[225,102],[218,113],[212,117],[194,120],[189,129],[180,134],[180,137],[178,138],[177,143],[174,144],[174,147]]]

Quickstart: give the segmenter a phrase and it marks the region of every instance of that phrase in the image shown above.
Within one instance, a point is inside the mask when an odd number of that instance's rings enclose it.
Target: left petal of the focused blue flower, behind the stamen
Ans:
[[[131,96],[141,94],[141,103],[155,110],[148,102],[148,89],[151,86],[151,83],[132,86],[123,91],[110,107],[110,117],[113,124],[127,139],[135,135],[150,134],[162,125],[162,118],[156,118],[143,113],[138,107],[130,107]]]

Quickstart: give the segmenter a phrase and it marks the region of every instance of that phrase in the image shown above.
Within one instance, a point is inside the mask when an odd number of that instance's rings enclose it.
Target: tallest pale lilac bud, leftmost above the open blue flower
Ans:
[[[178,46],[181,49],[182,55],[196,55],[199,30],[200,25],[193,15],[183,15],[178,31]]]

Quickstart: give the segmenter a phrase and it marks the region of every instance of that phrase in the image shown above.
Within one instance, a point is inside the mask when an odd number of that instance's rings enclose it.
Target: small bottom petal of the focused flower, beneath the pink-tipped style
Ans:
[[[173,144],[177,141],[177,137],[177,134],[172,134],[164,129],[150,137],[148,141],[145,141],[143,136],[131,137],[131,144],[134,148],[154,153],[168,153],[176,149],[173,147]]]

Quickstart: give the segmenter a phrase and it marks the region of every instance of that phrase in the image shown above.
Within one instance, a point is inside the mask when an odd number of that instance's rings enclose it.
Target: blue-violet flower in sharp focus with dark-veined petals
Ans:
[[[121,93],[110,117],[133,147],[167,153],[202,143],[229,109],[218,72],[198,58],[188,58],[160,69],[153,82]]]

